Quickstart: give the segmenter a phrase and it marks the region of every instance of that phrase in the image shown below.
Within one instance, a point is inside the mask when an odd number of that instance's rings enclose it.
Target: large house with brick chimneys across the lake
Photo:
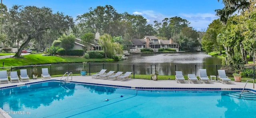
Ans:
[[[156,36],[144,36],[142,39],[132,39],[132,45],[130,45],[131,53],[139,53],[142,48],[150,48],[153,49],[154,52],[158,52],[160,48],[171,48],[179,50],[179,44],[173,43],[173,39],[162,40],[158,39]]]

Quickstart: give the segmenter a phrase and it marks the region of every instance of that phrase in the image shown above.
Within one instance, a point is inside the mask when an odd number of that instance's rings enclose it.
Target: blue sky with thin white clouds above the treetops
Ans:
[[[161,22],[164,18],[178,16],[188,20],[190,26],[198,31],[206,31],[208,25],[218,19],[214,10],[224,7],[218,0],[2,0],[2,3],[8,9],[14,4],[46,6],[54,13],[59,11],[74,18],[89,12],[90,7],[111,5],[120,14],[142,15],[150,24],[154,20]]]

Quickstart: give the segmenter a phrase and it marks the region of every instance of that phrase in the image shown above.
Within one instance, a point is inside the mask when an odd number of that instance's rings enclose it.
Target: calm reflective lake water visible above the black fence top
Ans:
[[[106,63],[137,65],[220,65],[221,59],[204,52],[131,54],[127,60]]]

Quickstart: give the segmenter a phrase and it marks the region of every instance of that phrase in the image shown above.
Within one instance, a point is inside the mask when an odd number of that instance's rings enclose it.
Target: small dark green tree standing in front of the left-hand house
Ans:
[[[87,32],[84,35],[82,35],[81,43],[86,45],[87,50],[90,50],[90,46],[92,45],[92,43],[94,43],[94,38],[95,38],[94,33]]]

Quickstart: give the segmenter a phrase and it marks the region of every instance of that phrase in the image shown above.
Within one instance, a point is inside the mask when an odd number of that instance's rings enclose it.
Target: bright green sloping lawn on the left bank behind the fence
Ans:
[[[0,66],[4,62],[4,67],[22,66],[22,65],[39,65],[49,63],[74,63],[74,62],[102,62],[102,61],[114,61],[113,59],[85,59],[78,56],[42,56],[42,54],[29,54],[24,55],[22,58],[6,58],[0,59]]]

